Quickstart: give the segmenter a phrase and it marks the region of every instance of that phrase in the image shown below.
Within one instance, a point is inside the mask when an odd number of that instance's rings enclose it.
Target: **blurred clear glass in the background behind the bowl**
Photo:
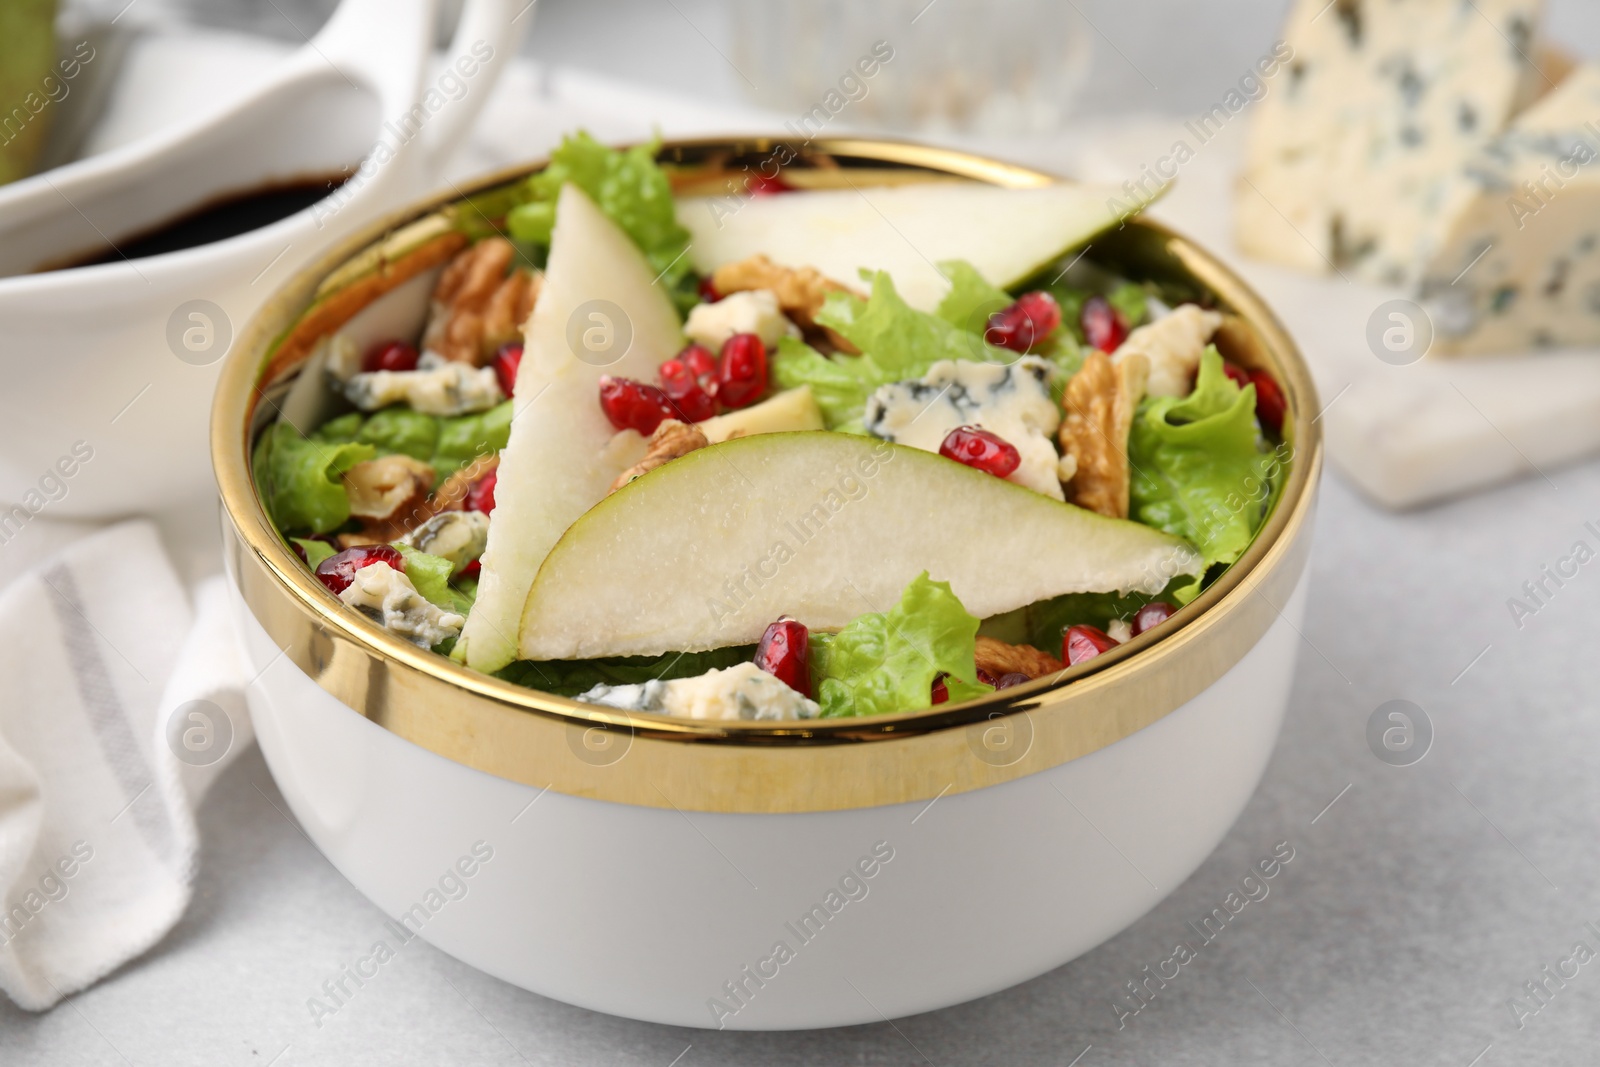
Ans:
[[[1067,118],[1090,70],[1093,30],[1062,0],[734,0],[733,8],[733,64],[746,93],[795,115],[808,136],[824,115],[917,133],[1045,133]]]

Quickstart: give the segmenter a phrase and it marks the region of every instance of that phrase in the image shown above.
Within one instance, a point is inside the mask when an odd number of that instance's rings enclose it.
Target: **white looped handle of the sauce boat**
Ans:
[[[437,181],[515,54],[533,6],[530,0],[466,0],[435,70],[429,61],[437,0],[344,0],[310,48],[378,96],[382,126],[362,170],[371,176],[373,168],[405,157],[414,182]]]

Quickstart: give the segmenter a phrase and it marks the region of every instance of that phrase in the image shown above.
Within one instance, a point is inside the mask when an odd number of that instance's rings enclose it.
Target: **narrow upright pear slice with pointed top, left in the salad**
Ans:
[[[600,376],[650,381],[682,347],[677,310],[638,248],[576,186],[563,186],[517,370],[478,597],[458,643],[469,665],[499,670],[515,659],[517,624],[544,555],[637,459],[608,448],[616,427],[600,411]]]

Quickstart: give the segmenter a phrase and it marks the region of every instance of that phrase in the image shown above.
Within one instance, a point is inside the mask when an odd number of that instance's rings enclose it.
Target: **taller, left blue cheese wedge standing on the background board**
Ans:
[[[1293,54],[1254,104],[1240,248],[1413,283],[1462,165],[1542,82],[1530,59],[1539,10],[1539,0],[1296,0],[1283,32]]]

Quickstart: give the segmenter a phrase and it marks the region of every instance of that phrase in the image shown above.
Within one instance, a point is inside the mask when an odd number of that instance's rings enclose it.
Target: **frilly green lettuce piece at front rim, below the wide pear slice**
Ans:
[[[976,681],[978,619],[949,582],[923,571],[888,613],[858,616],[838,633],[811,635],[811,680],[824,718],[890,715],[933,705],[933,681],[949,675],[950,702],[990,688]]]

